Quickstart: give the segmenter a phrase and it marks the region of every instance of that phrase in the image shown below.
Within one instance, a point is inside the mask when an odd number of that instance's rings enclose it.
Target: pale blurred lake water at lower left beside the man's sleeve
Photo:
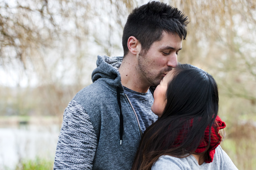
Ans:
[[[0,128],[0,170],[14,169],[20,159],[54,160],[58,124]]]

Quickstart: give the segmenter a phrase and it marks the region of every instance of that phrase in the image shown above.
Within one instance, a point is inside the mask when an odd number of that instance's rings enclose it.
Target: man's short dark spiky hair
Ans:
[[[133,9],[128,16],[123,32],[124,56],[128,53],[127,41],[134,36],[141,48],[148,51],[151,44],[162,38],[162,32],[177,33],[181,39],[187,36],[188,17],[177,8],[163,2],[152,1]]]

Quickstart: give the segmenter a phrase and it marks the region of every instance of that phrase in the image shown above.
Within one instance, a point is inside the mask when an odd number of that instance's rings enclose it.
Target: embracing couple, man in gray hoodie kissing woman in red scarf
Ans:
[[[213,77],[179,64],[188,19],[149,2],[123,31],[124,57],[98,56],[92,84],[64,111],[54,169],[237,169]]]

